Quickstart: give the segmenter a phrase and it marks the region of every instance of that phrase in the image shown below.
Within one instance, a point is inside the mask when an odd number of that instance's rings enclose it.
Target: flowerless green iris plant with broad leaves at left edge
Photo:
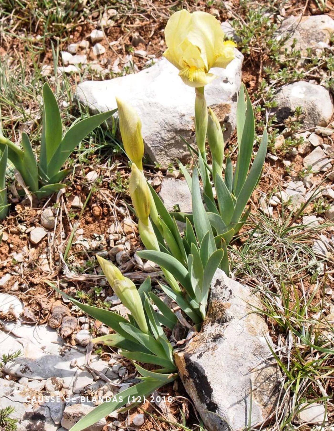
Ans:
[[[62,169],[74,148],[97,126],[116,111],[83,119],[74,123],[63,136],[59,106],[49,84],[43,85],[43,128],[40,159],[37,163],[28,135],[22,133],[22,148],[0,135],[0,150],[8,149],[8,158],[18,170],[28,190],[38,199],[64,187],[60,184],[72,169]]]

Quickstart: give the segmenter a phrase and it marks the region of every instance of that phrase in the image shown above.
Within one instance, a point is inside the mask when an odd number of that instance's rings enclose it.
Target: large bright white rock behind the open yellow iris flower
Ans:
[[[243,56],[237,50],[235,55],[226,69],[210,70],[218,78],[205,87],[207,105],[226,127],[225,140],[235,129],[241,84]],[[181,136],[189,143],[195,139],[195,89],[184,84],[178,73],[176,67],[163,58],[136,74],[109,81],[84,81],[77,87],[77,99],[93,113],[116,108],[116,96],[131,103],[142,121],[145,152],[153,162],[167,166],[176,157],[189,158]]]

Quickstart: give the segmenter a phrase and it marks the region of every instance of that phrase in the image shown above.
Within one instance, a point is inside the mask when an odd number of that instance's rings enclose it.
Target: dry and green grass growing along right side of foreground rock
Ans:
[[[308,227],[293,222],[293,212],[278,219],[251,217],[232,250],[232,270],[241,282],[260,292],[262,309],[277,350],[281,390],[270,430],[294,429],[305,403],[322,403],[333,414],[330,384],[334,376],[334,331],[327,316],[328,275],[325,259],[312,243],[328,225]]]

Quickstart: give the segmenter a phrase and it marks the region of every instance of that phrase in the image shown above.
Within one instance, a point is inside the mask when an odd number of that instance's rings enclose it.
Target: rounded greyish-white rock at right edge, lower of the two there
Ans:
[[[274,97],[277,107],[272,110],[281,123],[294,115],[297,106],[303,109],[303,126],[327,126],[334,113],[333,98],[321,85],[298,81],[281,87]]]

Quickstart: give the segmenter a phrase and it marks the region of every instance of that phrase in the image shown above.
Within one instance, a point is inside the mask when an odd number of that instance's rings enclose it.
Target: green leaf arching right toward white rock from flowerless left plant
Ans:
[[[101,123],[105,122],[110,118],[116,109],[112,111],[103,112],[102,114],[96,114],[91,117],[85,118],[74,124],[65,133],[61,143],[57,147],[53,156],[48,162],[47,173],[49,177],[56,175],[60,171],[65,161],[74,151],[74,148],[86,137],[91,131],[98,127]]]

